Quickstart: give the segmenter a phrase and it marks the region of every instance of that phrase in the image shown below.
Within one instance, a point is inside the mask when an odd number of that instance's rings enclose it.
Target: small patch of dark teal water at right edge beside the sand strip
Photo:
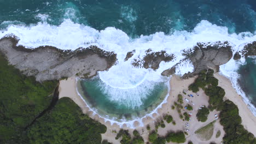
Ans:
[[[256,58],[246,58],[246,64],[240,66],[238,73],[243,91],[256,106]]]

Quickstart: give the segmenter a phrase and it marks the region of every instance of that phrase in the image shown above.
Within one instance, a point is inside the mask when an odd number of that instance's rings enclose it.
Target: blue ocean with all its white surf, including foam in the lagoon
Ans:
[[[156,89],[165,89],[168,82],[160,75],[163,70],[177,63],[177,75],[194,70],[190,61],[182,61],[183,50],[192,49],[198,42],[229,41],[235,53],[255,41],[255,10],[253,0],[0,0],[0,38],[16,37],[18,45],[31,49],[50,45],[75,50],[96,45],[117,53],[117,64],[98,72],[96,83],[103,84],[95,86],[96,90],[90,88],[90,93],[100,91],[102,95],[110,89],[106,101],[121,103],[125,98],[129,109],[135,106],[141,110],[145,109],[143,101],[152,98],[140,92],[151,91],[159,83],[165,85]],[[157,70],[133,67],[132,59],[143,57],[148,49],[175,57],[171,62],[161,62]],[[132,50],[135,54],[124,62],[126,53]],[[255,61],[231,59],[220,67],[220,73],[229,77],[256,113]],[[90,84],[91,80],[86,82]]]

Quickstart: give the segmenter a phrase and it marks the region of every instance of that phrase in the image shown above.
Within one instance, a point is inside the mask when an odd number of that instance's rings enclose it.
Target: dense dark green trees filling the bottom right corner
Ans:
[[[238,107],[230,100],[224,101],[223,110],[220,112],[220,124],[225,131],[224,143],[256,143],[254,135],[243,128],[241,122]]]

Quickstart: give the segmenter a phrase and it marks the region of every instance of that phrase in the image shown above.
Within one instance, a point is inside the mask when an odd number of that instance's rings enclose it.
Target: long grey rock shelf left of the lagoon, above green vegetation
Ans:
[[[0,40],[0,51],[9,63],[22,73],[35,76],[37,81],[55,80],[62,77],[91,77],[99,70],[106,70],[115,63],[116,54],[96,46],[75,51],[63,51],[51,46],[26,49],[16,46],[15,38]]]

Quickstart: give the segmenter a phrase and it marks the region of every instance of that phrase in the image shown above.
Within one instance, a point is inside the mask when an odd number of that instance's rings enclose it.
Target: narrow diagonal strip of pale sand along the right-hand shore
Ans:
[[[254,134],[254,136],[256,136],[256,117],[248,109],[246,103],[243,102],[241,95],[236,93],[236,90],[232,87],[232,84],[228,78],[217,73],[214,74],[214,76],[219,80],[219,86],[225,89],[226,94],[224,98],[233,101],[233,103],[237,105],[239,109],[239,115],[242,118],[242,125],[249,132]]]

